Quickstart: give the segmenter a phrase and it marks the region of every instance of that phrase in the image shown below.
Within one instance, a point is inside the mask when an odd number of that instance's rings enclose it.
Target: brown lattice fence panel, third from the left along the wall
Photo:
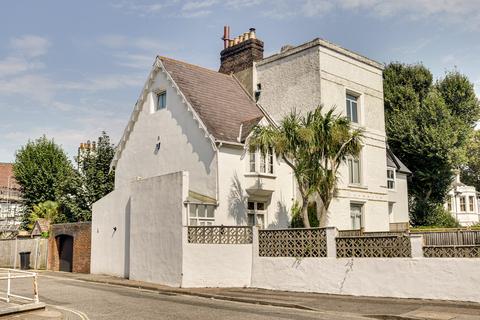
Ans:
[[[410,239],[403,236],[338,237],[337,258],[406,258],[412,256]]]

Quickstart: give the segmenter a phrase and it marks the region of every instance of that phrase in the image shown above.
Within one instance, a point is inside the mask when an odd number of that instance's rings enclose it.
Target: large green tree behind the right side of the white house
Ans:
[[[478,106],[465,79],[453,72],[433,85],[423,65],[392,63],[384,70],[388,143],[413,172],[409,203],[414,225],[442,220],[439,207],[450,188],[452,169],[466,159]]]

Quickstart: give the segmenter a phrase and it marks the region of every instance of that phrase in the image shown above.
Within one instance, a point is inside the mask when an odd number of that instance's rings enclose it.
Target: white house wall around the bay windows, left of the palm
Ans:
[[[223,145],[218,154],[219,206],[216,210],[217,225],[247,225],[247,201],[255,196],[248,193],[255,184],[273,190],[270,195],[256,199],[268,199],[265,227],[285,228],[290,223],[294,186],[291,169],[281,159],[274,160],[274,174],[248,172],[248,150]]]

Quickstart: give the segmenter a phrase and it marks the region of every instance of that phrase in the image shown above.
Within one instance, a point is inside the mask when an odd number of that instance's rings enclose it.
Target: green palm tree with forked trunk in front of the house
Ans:
[[[349,156],[358,156],[361,149],[361,130],[352,130],[350,121],[326,114],[318,107],[301,116],[290,112],[279,126],[257,126],[249,139],[250,149],[267,153],[273,148],[292,169],[301,196],[303,224],[310,228],[309,200],[318,194],[321,199],[318,219],[328,212],[334,196],[338,168]]]

